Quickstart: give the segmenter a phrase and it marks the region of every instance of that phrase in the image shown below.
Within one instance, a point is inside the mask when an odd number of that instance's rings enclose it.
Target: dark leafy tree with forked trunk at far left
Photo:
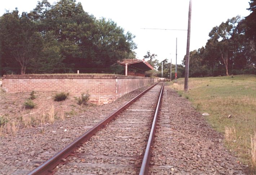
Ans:
[[[37,58],[42,47],[42,37],[35,30],[35,24],[28,14],[18,15],[18,9],[5,13],[1,17],[0,38],[2,58],[7,65],[20,66],[20,73],[25,74],[31,59]],[[15,68],[15,67],[14,67]]]

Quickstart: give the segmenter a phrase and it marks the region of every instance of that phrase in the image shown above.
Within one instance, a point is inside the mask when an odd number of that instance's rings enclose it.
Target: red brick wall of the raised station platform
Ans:
[[[89,91],[89,102],[101,105],[140,87],[157,82],[155,78],[124,75],[52,74],[4,75],[3,89],[9,93],[30,91],[69,92],[80,96]]]

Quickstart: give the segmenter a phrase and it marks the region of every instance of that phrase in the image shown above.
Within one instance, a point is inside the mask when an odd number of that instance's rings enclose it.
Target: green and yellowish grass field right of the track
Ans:
[[[184,78],[171,84],[180,96],[189,99],[199,112],[208,112],[209,124],[225,134],[226,146],[240,160],[252,165],[251,137],[256,131],[256,75]],[[230,116],[231,115],[231,116]]]

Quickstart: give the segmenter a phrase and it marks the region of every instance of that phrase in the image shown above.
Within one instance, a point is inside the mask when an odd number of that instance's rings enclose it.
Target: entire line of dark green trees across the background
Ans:
[[[190,52],[190,77],[256,74],[256,1],[249,4],[250,15],[213,27],[206,45]],[[16,8],[0,17],[0,75],[76,70],[123,74],[116,61],[136,57],[134,37],[112,20],[89,15],[75,0],[42,0],[29,13],[19,15]],[[156,69],[147,76],[161,76],[156,56],[150,51],[144,56]],[[185,57],[178,77],[184,76],[184,64]],[[168,77],[169,65],[163,61],[163,77]],[[172,76],[174,71],[173,65]]]

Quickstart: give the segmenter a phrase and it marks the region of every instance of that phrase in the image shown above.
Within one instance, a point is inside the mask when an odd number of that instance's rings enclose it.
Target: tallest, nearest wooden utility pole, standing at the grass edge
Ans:
[[[191,10],[192,10],[192,0],[189,1],[189,22],[187,25],[187,52],[186,52],[185,82],[184,82],[184,91],[185,92],[189,88],[188,81],[189,81],[189,45],[190,45]]]

